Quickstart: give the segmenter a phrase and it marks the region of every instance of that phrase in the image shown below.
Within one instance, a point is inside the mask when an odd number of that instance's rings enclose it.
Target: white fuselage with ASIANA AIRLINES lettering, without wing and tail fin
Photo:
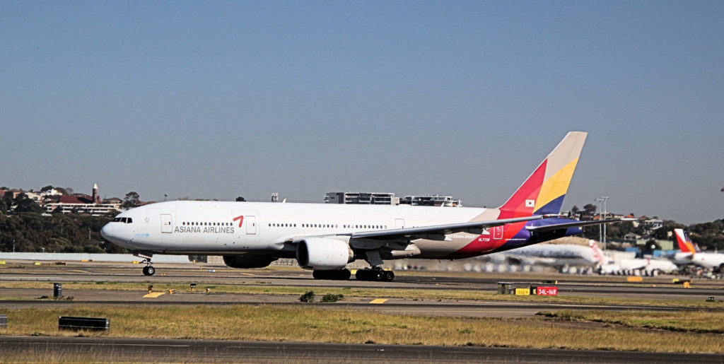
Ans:
[[[498,213],[497,209],[461,207],[170,201],[120,213],[104,227],[104,237],[146,253],[233,255],[256,251],[293,258],[290,243],[298,237],[496,219]],[[464,258],[542,241],[531,240],[523,229],[525,224],[493,227],[482,234],[458,232],[442,239],[418,239],[414,244],[419,252],[405,258]],[[474,250],[460,251],[471,244]]]

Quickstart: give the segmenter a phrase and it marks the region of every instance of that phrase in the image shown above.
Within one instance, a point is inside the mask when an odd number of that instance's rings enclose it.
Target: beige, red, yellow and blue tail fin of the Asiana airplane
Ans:
[[[560,213],[587,132],[568,132],[526,182],[500,206],[501,218]]]

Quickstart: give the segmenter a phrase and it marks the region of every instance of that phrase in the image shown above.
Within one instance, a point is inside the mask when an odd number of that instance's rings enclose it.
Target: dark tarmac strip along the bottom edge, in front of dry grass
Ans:
[[[204,363],[722,363],[723,355],[502,347],[0,337],[4,359]]]

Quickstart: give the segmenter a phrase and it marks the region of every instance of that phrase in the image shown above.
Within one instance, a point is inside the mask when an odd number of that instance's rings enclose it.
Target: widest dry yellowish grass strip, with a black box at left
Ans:
[[[4,313],[8,315],[8,329],[2,329],[0,333],[10,335],[75,336],[78,333],[56,329],[58,316],[92,316],[109,318],[111,329],[107,334],[84,332],[83,335],[724,352],[720,345],[724,334],[711,332],[714,326],[722,327],[724,313],[631,313],[629,317],[628,313],[588,311],[561,313],[554,318],[504,320],[264,305],[164,306],[143,310],[131,306],[75,306],[6,310]],[[696,316],[691,318],[692,315]],[[656,329],[649,329],[647,325]],[[668,329],[669,326],[673,329]]]

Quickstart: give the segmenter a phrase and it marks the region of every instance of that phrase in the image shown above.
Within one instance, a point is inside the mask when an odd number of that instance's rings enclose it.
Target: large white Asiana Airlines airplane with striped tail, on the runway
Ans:
[[[356,279],[392,281],[383,259],[470,258],[611,222],[558,217],[585,140],[569,132],[498,208],[169,201],[119,213],[101,234],[145,258],[146,275],[159,253],[223,255],[234,268],[295,258],[316,279],[349,279],[348,263],[363,259],[371,268]]]

